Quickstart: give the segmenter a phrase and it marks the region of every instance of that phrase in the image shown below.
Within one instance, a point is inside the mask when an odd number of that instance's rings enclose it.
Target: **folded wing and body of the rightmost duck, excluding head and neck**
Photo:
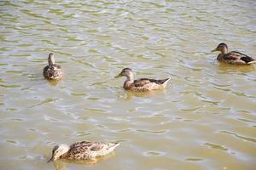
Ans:
[[[242,54],[242,53],[237,52],[237,51],[231,51],[230,53],[225,54],[224,55],[224,59],[227,59],[227,60],[240,60],[241,62],[244,62],[244,63],[250,63],[250,62],[255,60],[255,59],[247,56],[246,54]]]

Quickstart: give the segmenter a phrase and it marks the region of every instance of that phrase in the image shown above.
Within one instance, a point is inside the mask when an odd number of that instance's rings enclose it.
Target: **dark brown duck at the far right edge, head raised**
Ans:
[[[218,54],[218,61],[225,62],[233,65],[251,65],[256,63],[256,60],[247,56],[246,54],[241,54],[237,51],[228,52],[228,46],[224,42],[218,44],[218,47],[213,49],[214,51],[220,51]]]

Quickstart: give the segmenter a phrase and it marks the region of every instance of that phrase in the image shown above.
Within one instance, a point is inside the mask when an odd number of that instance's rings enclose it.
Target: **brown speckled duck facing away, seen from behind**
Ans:
[[[49,80],[60,80],[62,77],[61,65],[55,64],[54,54],[50,53],[48,57],[48,65],[44,67],[43,75]]]

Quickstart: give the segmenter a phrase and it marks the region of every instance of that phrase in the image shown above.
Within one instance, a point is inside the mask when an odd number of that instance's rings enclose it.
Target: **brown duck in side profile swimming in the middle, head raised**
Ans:
[[[171,78],[166,78],[162,80],[155,80],[151,78],[140,78],[134,80],[133,72],[131,68],[124,68],[117,77],[126,77],[123,88],[125,90],[131,90],[136,92],[148,92],[151,90],[166,88],[167,82]]]

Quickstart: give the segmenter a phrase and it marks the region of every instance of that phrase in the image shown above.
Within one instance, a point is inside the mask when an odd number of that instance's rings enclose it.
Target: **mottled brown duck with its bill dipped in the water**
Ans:
[[[97,156],[106,156],[112,152],[119,143],[100,143],[81,141],[71,145],[58,144],[52,150],[49,161],[66,159],[69,161],[96,160]]]

